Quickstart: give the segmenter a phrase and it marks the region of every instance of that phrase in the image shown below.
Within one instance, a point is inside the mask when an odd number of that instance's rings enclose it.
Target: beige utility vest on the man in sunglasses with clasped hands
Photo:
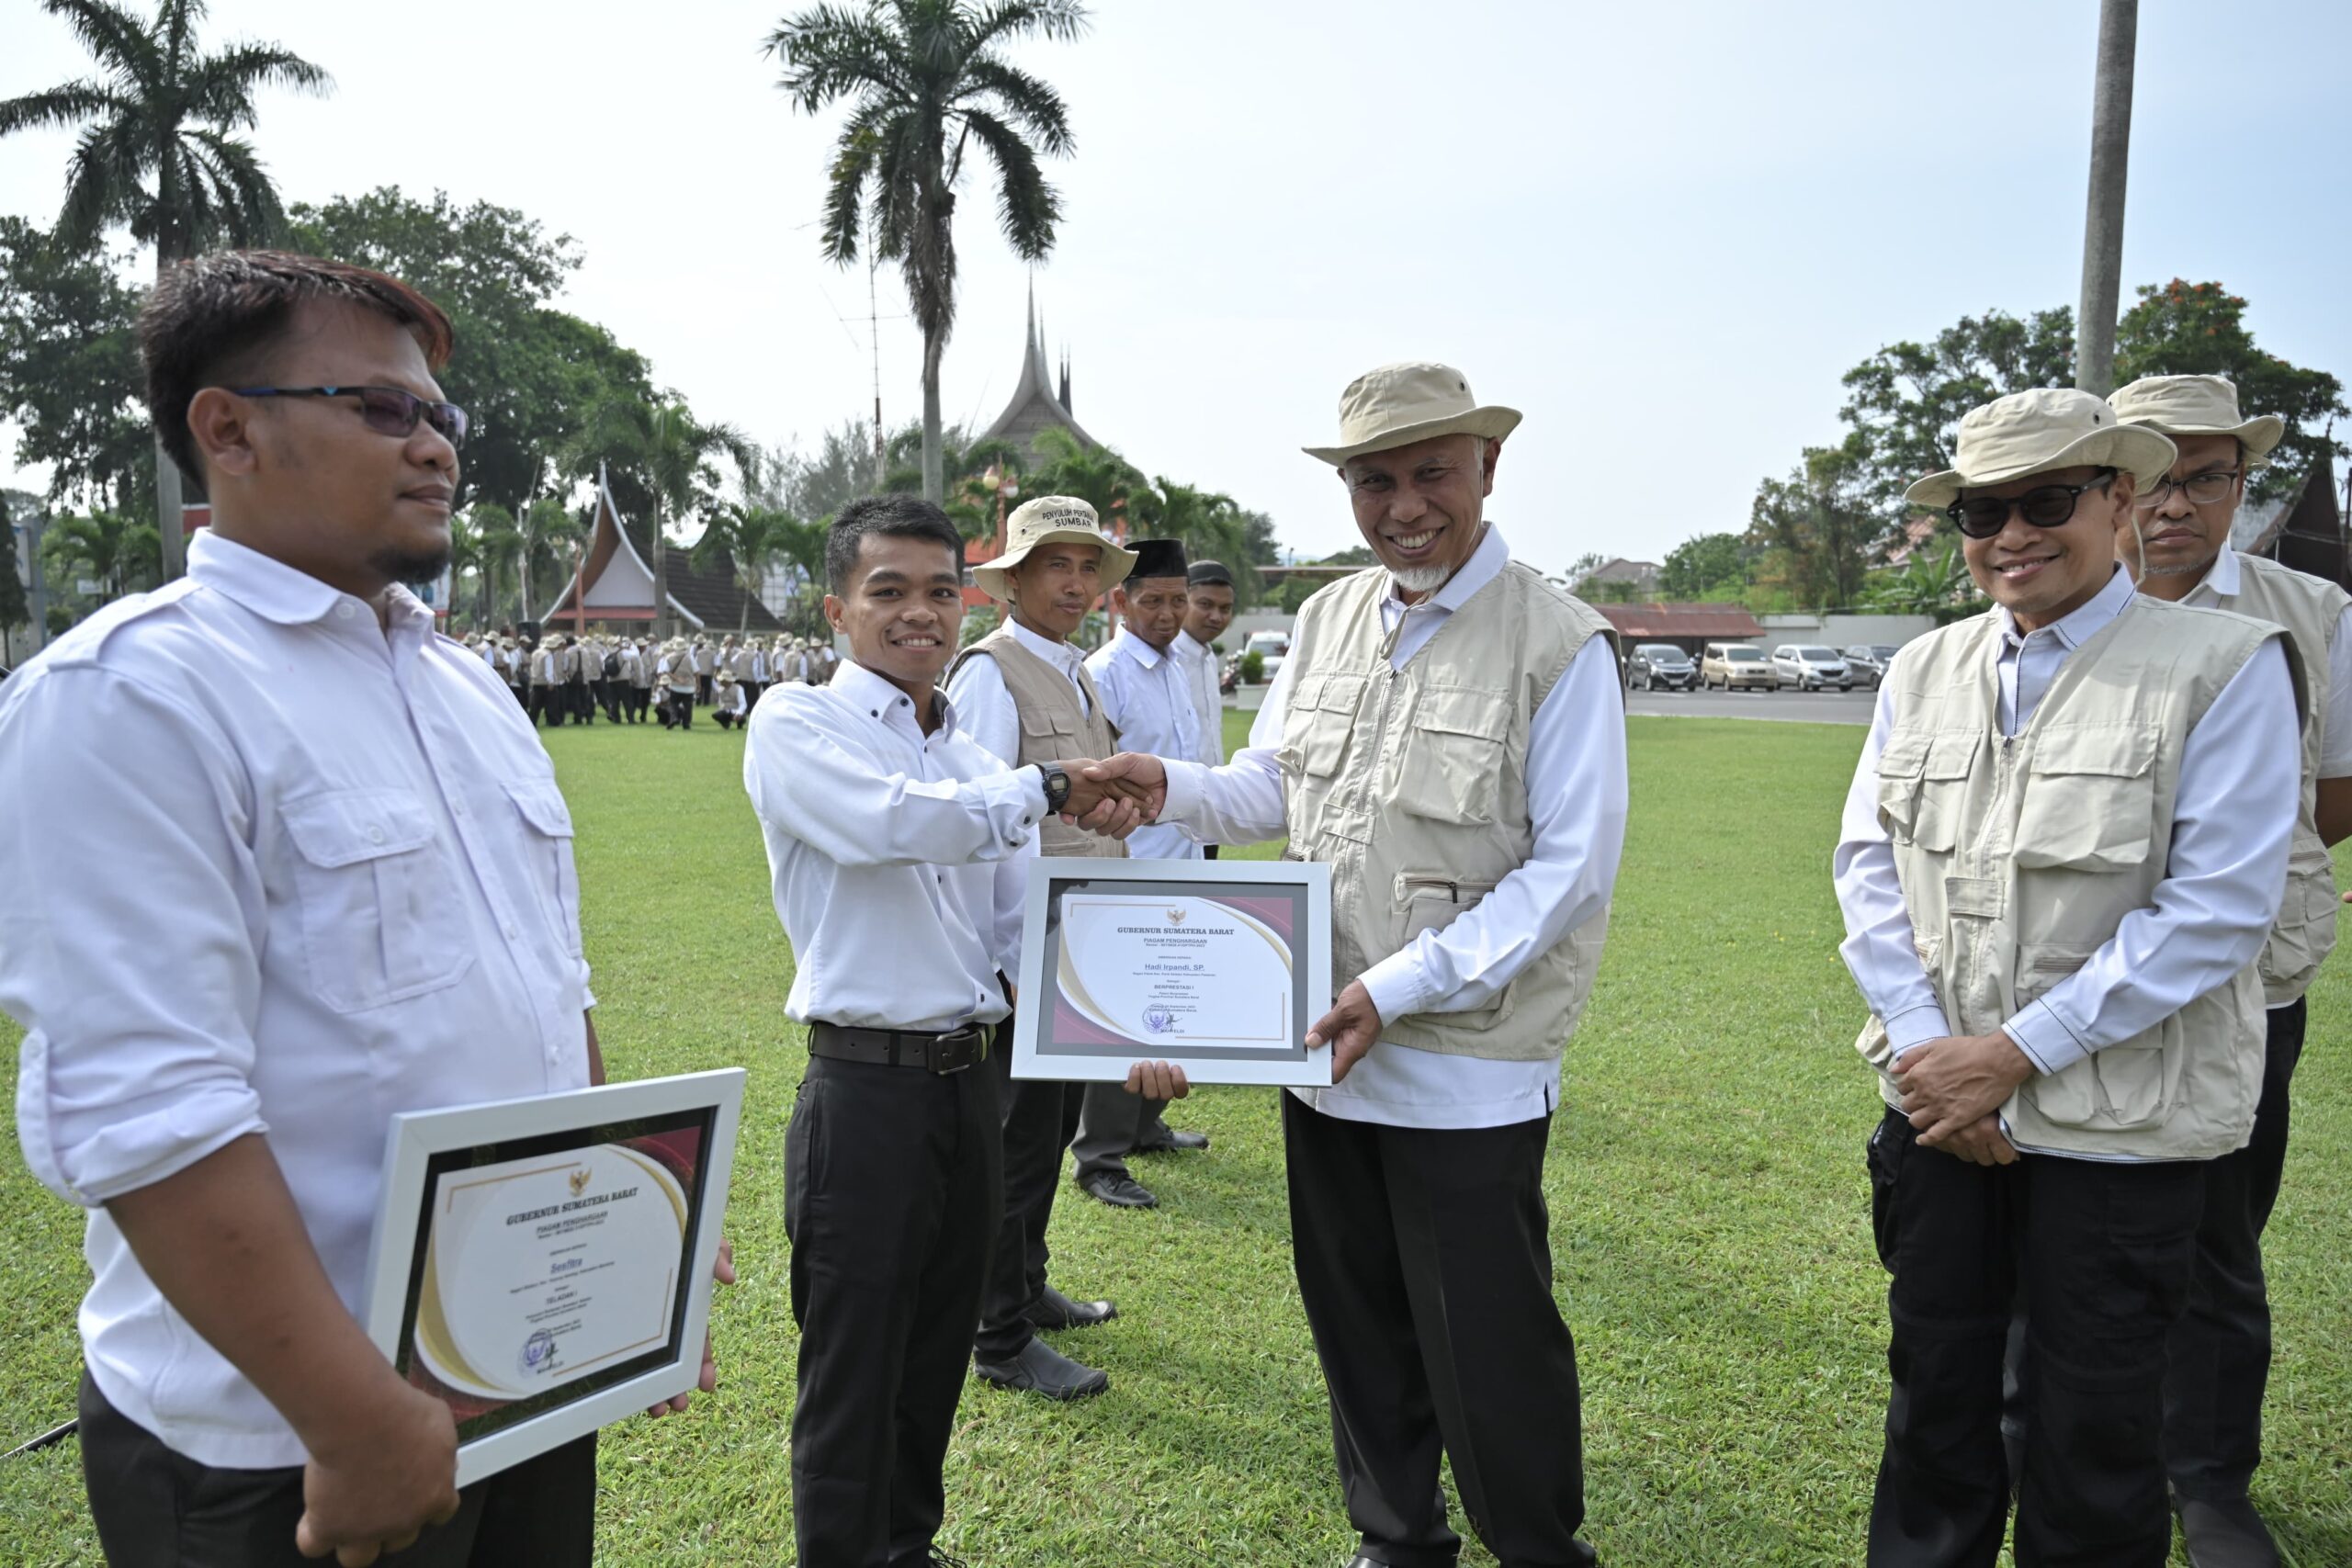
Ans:
[[[2279,628],[2246,616],[2133,597],[2060,665],[2016,736],[1999,726],[1999,611],[1903,649],[1886,675],[1879,818],[1955,1034],[1999,1032],[2154,903],[2180,748],[2272,637]],[[2291,642],[2286,654],[2296,668]],[[2263,1037],[2263,983],[2246,964],[2145,1034],[2027,1079],[2002,1114],[2018,1145],[2056,1154],[2230,1154],[2253,1131]],[[1856,1046],[1900,1105],[1877,1018]]]

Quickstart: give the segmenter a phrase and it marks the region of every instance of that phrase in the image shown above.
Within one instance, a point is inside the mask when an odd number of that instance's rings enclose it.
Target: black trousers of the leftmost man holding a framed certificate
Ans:
[[[165,1448],[82,1373],[82,1486],[111,1568],[313,1568],[294,1549],[301,1465],[219,1469]],[[386,1568],[588,1568],[595,1561],[595,1434],[459,1493]],[[332,1561],[332,1559],[329,1559]]]

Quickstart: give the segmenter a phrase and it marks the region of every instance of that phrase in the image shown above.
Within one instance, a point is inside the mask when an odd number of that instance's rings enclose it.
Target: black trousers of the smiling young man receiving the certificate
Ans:
[[[809,1058],[786,1133],[800,1568],[915,1568],[946,1514],[1004,1206],[997,1074]]]

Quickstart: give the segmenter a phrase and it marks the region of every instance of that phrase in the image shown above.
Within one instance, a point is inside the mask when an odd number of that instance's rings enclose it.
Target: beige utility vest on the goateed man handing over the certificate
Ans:
[[[1317,592],[1298,611],[1284,670],[1284,853],[1331,867],[1336,985],[1454,924],[1526,865],[1529,722],[1585,642],[1616,646],[1606,621],[1510,562],[1395,670],[1383,597],[1378,567]],[[1486,1006],[1388,1018],[1381,1039],[1503,1063],[1552,1058],[1576,1032],[1606,936],[1604,910]]]

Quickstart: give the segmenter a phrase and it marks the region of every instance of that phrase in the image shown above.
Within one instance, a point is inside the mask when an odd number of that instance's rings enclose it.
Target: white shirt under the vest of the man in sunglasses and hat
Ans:
[[[2011,614],[1994,611],[2002,733],[2032,722],[2065,661],[2131,595],[2131,576],[2117,567],[2089,604],[2037,632],[2020,637]],[[1879,820],[1879,755],[1893,698],[1896,686],[1882,689],[1830,867],[1846,917],[1839,952],[1900,1056],[1952,1030],[1919,966],[1893,844]],[[2180,748],[2171,860],[2150,907],[2126,914],[2082,969],[2002,1025],[2037,1070],[2058,1072],[2152,1030],[2256,959],[2279,917],[2300,755],[2286,654],[2270,642],[2223,686]]]

